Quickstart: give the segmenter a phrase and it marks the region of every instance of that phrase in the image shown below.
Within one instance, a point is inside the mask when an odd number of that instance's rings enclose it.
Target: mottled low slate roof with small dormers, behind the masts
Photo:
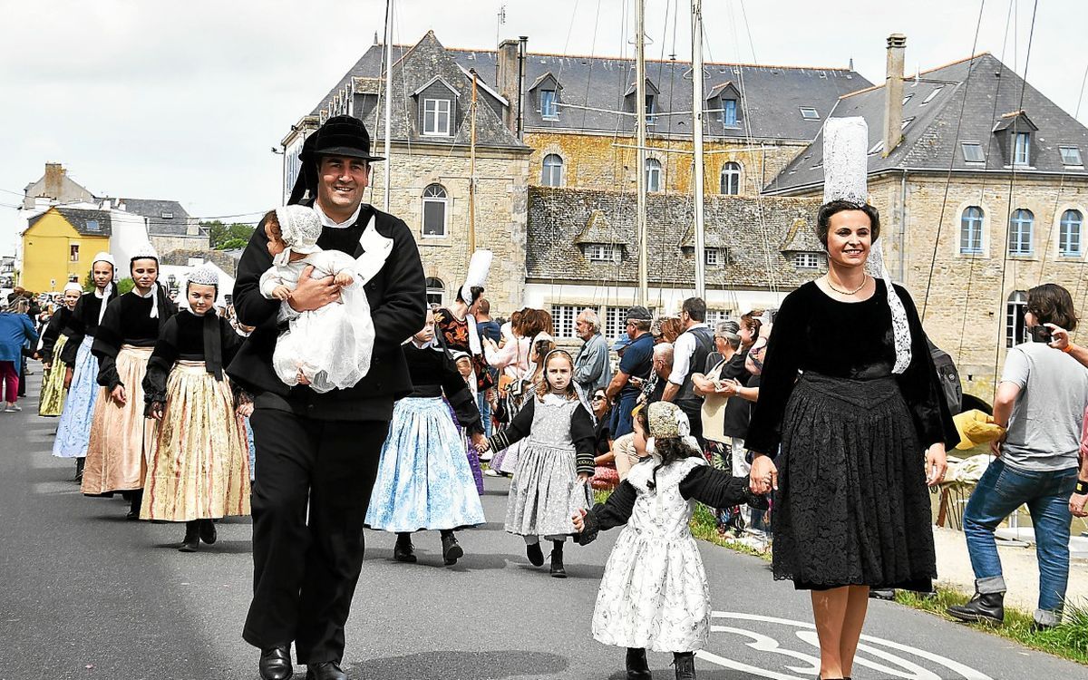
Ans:
[[[691,232],[692,202],[692,197],[682,194],[647,197],[651,285],[690,286],[694,281],[694,255],[684,247]],[[707,196],[707,243],[726,250],[725,265],[706,269],[707,286],[766,288],[768,282],[774,282],[793,288],[819,275],[819,270],[795,268],[780,248],[764,247],[782,244],[793,233],[791,230],[812,232],[819,202],[815,198]],[[761,213],[765,226],[761,226]],[[623,244],[621,262],[589,261],[577,242],[590,243],[581,235],[591,219],[597,226],[607,223],[614,230],[602,240]],[[526,251],[530,282],[635,285],[638,247],[632,196],[599,189],[529,187]]]

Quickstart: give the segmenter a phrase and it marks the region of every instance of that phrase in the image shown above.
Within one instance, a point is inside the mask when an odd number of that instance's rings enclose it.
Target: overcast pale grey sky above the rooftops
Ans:
[[[1088,69],[1088,2],[1038,4],[1027,77],[1074,113]],[[908,72],[967,57],[980,2],[704,5],[707,60],[853,59],[880,83],[891,33],[907,36]],[[986,2],[975,51],[1023,74],[1033,7]],[[433,28],[448,47],[494,49],[496,36],[526,35],[530,51],[631,55],[633,13],[633,0],[398,0],[394,41],[415,44]],[[13,207],[47,161],[98,195],[174,199],[197,217],[273,208],[281,163],[271,147],[367,50],[384,16],[384,0],[0,0],[0,254],[14,252]],[[647,54],[690,60],[689,17],[688,0],[646,0]],[[1088,122],[1088,107],[1079,119]]]

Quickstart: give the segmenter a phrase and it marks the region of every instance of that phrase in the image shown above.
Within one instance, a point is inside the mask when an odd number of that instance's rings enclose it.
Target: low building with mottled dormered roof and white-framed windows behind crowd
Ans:
[[[623,331],[638,285],[635,215],[630,193],[530,187],[526,304],[549,309],[558,339],[574,336],[578,310],[592,307],[605,335]],[[778,307],[826,271],[816,239],[816,198],[707,196],[704,205],[707,317],[716,321]],[[693,199],[647,197],[647,306],[679,312],[695,294]]]

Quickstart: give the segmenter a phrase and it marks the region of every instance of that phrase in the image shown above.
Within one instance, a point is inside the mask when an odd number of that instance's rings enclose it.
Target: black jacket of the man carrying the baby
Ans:
[[[359,236],[374,215],[374,227],[393,239],[393,250],[378,274],[366,285],[374,321],[374,353],[370,372],[354,387],[318,394],[305,385],[288,387],[272,369],[279,336],[280,300],[261,295],[260,279],[270,267],[264,223],[258,225],[238,262],[234,309],[238,320],[256,326],[243,343],[227,374],[256,395],[255,406],[288,410],[314,420],[388,420],[393,401],[411,394],[411,379],[400,343],[426,321],[426,285],[419,249],[408,226],[397,218],[363,206],[359,219],[344,228],[323,227],[318,245],[358,258]]]

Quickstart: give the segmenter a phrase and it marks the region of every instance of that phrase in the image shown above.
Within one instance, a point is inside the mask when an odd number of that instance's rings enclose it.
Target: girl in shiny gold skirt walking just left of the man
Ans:
[[[219,287],[210,268],[189,284]],[[187,290],[186,285],[186,290]],[[162,420],[144,484],[140,519],[186,522],[183,552],[215,542],[213,519],[249,515],[249,452],[224,363],[242,338],[214,308],[183,309],[162,326],[144,378],[150,411]],[[210,540],[209,540],[210,539]]]

